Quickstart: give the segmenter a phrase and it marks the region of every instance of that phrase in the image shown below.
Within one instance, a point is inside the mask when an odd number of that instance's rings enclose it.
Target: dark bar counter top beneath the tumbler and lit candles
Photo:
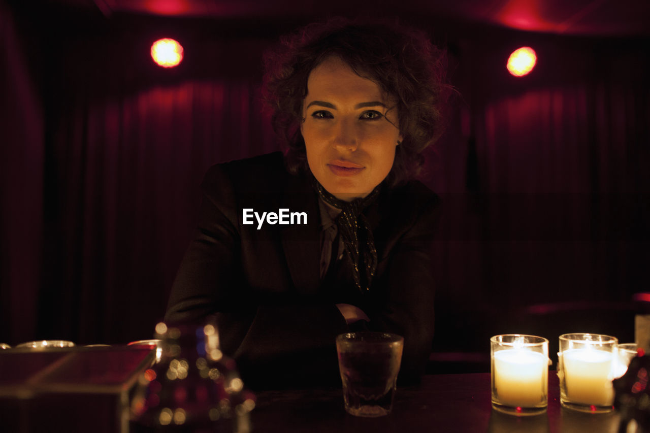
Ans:
[[[615,433],[619,415],[582,413],[560,406],[558,377],[549,371],[546,413],[516,417],[491,407],[489,373],[426,375],[398,387],[393,412],[360,418],[343,408],[340,388],[257,391],[253,433]]]

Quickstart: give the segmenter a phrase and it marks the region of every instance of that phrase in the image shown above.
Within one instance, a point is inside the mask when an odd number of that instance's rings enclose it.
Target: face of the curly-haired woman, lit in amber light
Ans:
[[[401,141],[394,101],[330,57],[309,74],[300,128],[314,177],[341,200],[367,196],[388,176]]]

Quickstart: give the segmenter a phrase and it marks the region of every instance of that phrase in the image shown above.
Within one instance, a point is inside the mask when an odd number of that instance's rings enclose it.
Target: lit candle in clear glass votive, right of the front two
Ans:
[[[618,340],[611,335],[560,335],[560,403],[582,412],[610,412],[614,404]]]

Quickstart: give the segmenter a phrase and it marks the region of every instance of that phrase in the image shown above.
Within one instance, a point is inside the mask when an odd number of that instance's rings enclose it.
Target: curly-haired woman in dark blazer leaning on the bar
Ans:
[[[216,320],[253,386],[336,378],[335,336],[355,329],[403,335],[400,378],[417,380],[438,200],[410,179],[439,135],[440,59],[421,33],[341,20],[267,55],[289,150],[207,172],[166,320]]]

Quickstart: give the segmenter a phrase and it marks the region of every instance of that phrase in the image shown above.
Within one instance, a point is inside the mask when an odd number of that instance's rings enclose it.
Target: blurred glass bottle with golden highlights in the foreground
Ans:
[[[161,322],[155,331],[162,356],[138,379],[131,432],[250,432],[255,396],[220,350],[216,326]]]

